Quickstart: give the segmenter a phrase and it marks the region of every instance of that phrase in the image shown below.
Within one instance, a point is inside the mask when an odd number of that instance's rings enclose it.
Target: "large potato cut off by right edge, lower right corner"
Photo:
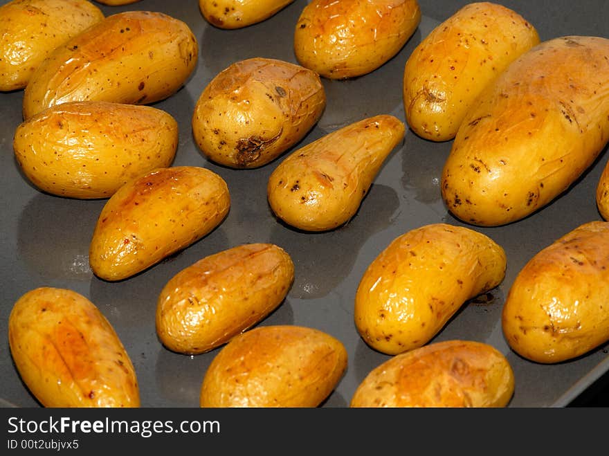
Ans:
[[[503,333],[531,361],[567,361],[609,340],[608,302],[609,222],[591,221],[518,273],[503,307]]]

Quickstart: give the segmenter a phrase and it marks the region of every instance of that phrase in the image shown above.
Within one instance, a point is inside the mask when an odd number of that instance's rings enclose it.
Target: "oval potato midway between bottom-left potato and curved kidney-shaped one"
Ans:
[[[163,287],[156,334],[174,352],[209,352],[268,316],[293,280],[291,257],[273,244],[244,244],[210,255]]]

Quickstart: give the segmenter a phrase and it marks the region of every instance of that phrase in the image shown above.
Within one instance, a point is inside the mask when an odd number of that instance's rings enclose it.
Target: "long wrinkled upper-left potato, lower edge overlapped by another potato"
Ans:
[[[198,52],[183,21],[161,12],[111,15],[40,64],[24,93],[24,118],[69,101],[163,100],[194,71]]]

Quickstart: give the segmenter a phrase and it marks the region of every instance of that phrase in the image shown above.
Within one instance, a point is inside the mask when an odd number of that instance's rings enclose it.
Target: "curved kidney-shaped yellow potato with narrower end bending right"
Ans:
[[[500,284],[504,250],[480,232],[448,224],[394,239],[367,267],[355,297],[355,325],[385,354],[425,345],[464,302]]]

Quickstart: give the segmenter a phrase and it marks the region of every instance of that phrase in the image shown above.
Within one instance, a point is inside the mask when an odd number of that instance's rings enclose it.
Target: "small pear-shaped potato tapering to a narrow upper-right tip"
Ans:
[[[300,230],[325,231],[345,224],[404,131],[397,118],[374,116],[292,152],[269,178],[273,212]]]

